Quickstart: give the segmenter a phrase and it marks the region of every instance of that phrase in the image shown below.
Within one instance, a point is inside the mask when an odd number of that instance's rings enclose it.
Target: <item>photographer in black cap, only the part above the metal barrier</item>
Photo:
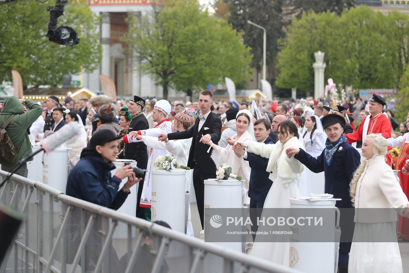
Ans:
[[[92,135],[90,144],[81,152],[81,160],[72,168],[67,180],[66,194],[111,209],[119,209],[130,193],[129,189],[142,178],[136,179],[132,165],[122,165],[114,176],[118,141],[111,130],[100,130]],[[128,177],[122,190],[122,179]]]

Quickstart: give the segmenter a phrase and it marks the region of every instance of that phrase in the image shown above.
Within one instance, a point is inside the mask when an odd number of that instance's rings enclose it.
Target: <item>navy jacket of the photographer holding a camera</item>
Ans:
[[[119,189],[121,179],[111,175],[115,165],[97,155],[81,155],[68,176],[66,194],[110,209],[119,209],[128,193]]]

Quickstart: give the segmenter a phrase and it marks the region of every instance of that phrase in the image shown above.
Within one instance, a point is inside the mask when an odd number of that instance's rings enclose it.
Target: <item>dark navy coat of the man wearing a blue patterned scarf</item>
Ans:
[[[337,201],[338,208],[352,208],[351,197],[349,196],[349,183],[352,180],[353,173],[360,165],[361,156],[359,152],[344,142],[341,144],[342,151],[336,151],[333,161],[328,166],[325,160],[324,150],[318,158],[310,156],[306,151],[300,149],[300,152],[294,157],[314,173],[325,174],[325,193],[334,195],[334,198],[342,198]],[[313,183],[313,181],[311,181]]]

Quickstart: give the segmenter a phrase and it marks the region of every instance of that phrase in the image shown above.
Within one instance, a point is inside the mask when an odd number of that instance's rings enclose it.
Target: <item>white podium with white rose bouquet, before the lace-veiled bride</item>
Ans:
[[[229,179],[229,180],[205,180],[205,208],[243,208],[243,182],[241,180]],[[205,218],[211,217],[205,208]],[[206,225],[209,225],[207,221],[204,223],[205,230]],[[206,232],[205,232],[206,237]],[[245,242],[244,242],[245,243]],[[236,251],[242,252],[243,242],[217,242],[219,246],[230,248]]]

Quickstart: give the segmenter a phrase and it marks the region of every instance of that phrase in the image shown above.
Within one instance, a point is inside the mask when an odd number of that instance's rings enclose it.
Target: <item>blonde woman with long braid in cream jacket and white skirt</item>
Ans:
[[[385,163],[387,146],[381,134],[367,135],[362,145],[362,156],[366,159],[351,181],[355,229],[349,253],[350,273],[403,271],[396,237],[396,212],[376,210],[393,208],[402,216],[409,216],[408,198]]]

